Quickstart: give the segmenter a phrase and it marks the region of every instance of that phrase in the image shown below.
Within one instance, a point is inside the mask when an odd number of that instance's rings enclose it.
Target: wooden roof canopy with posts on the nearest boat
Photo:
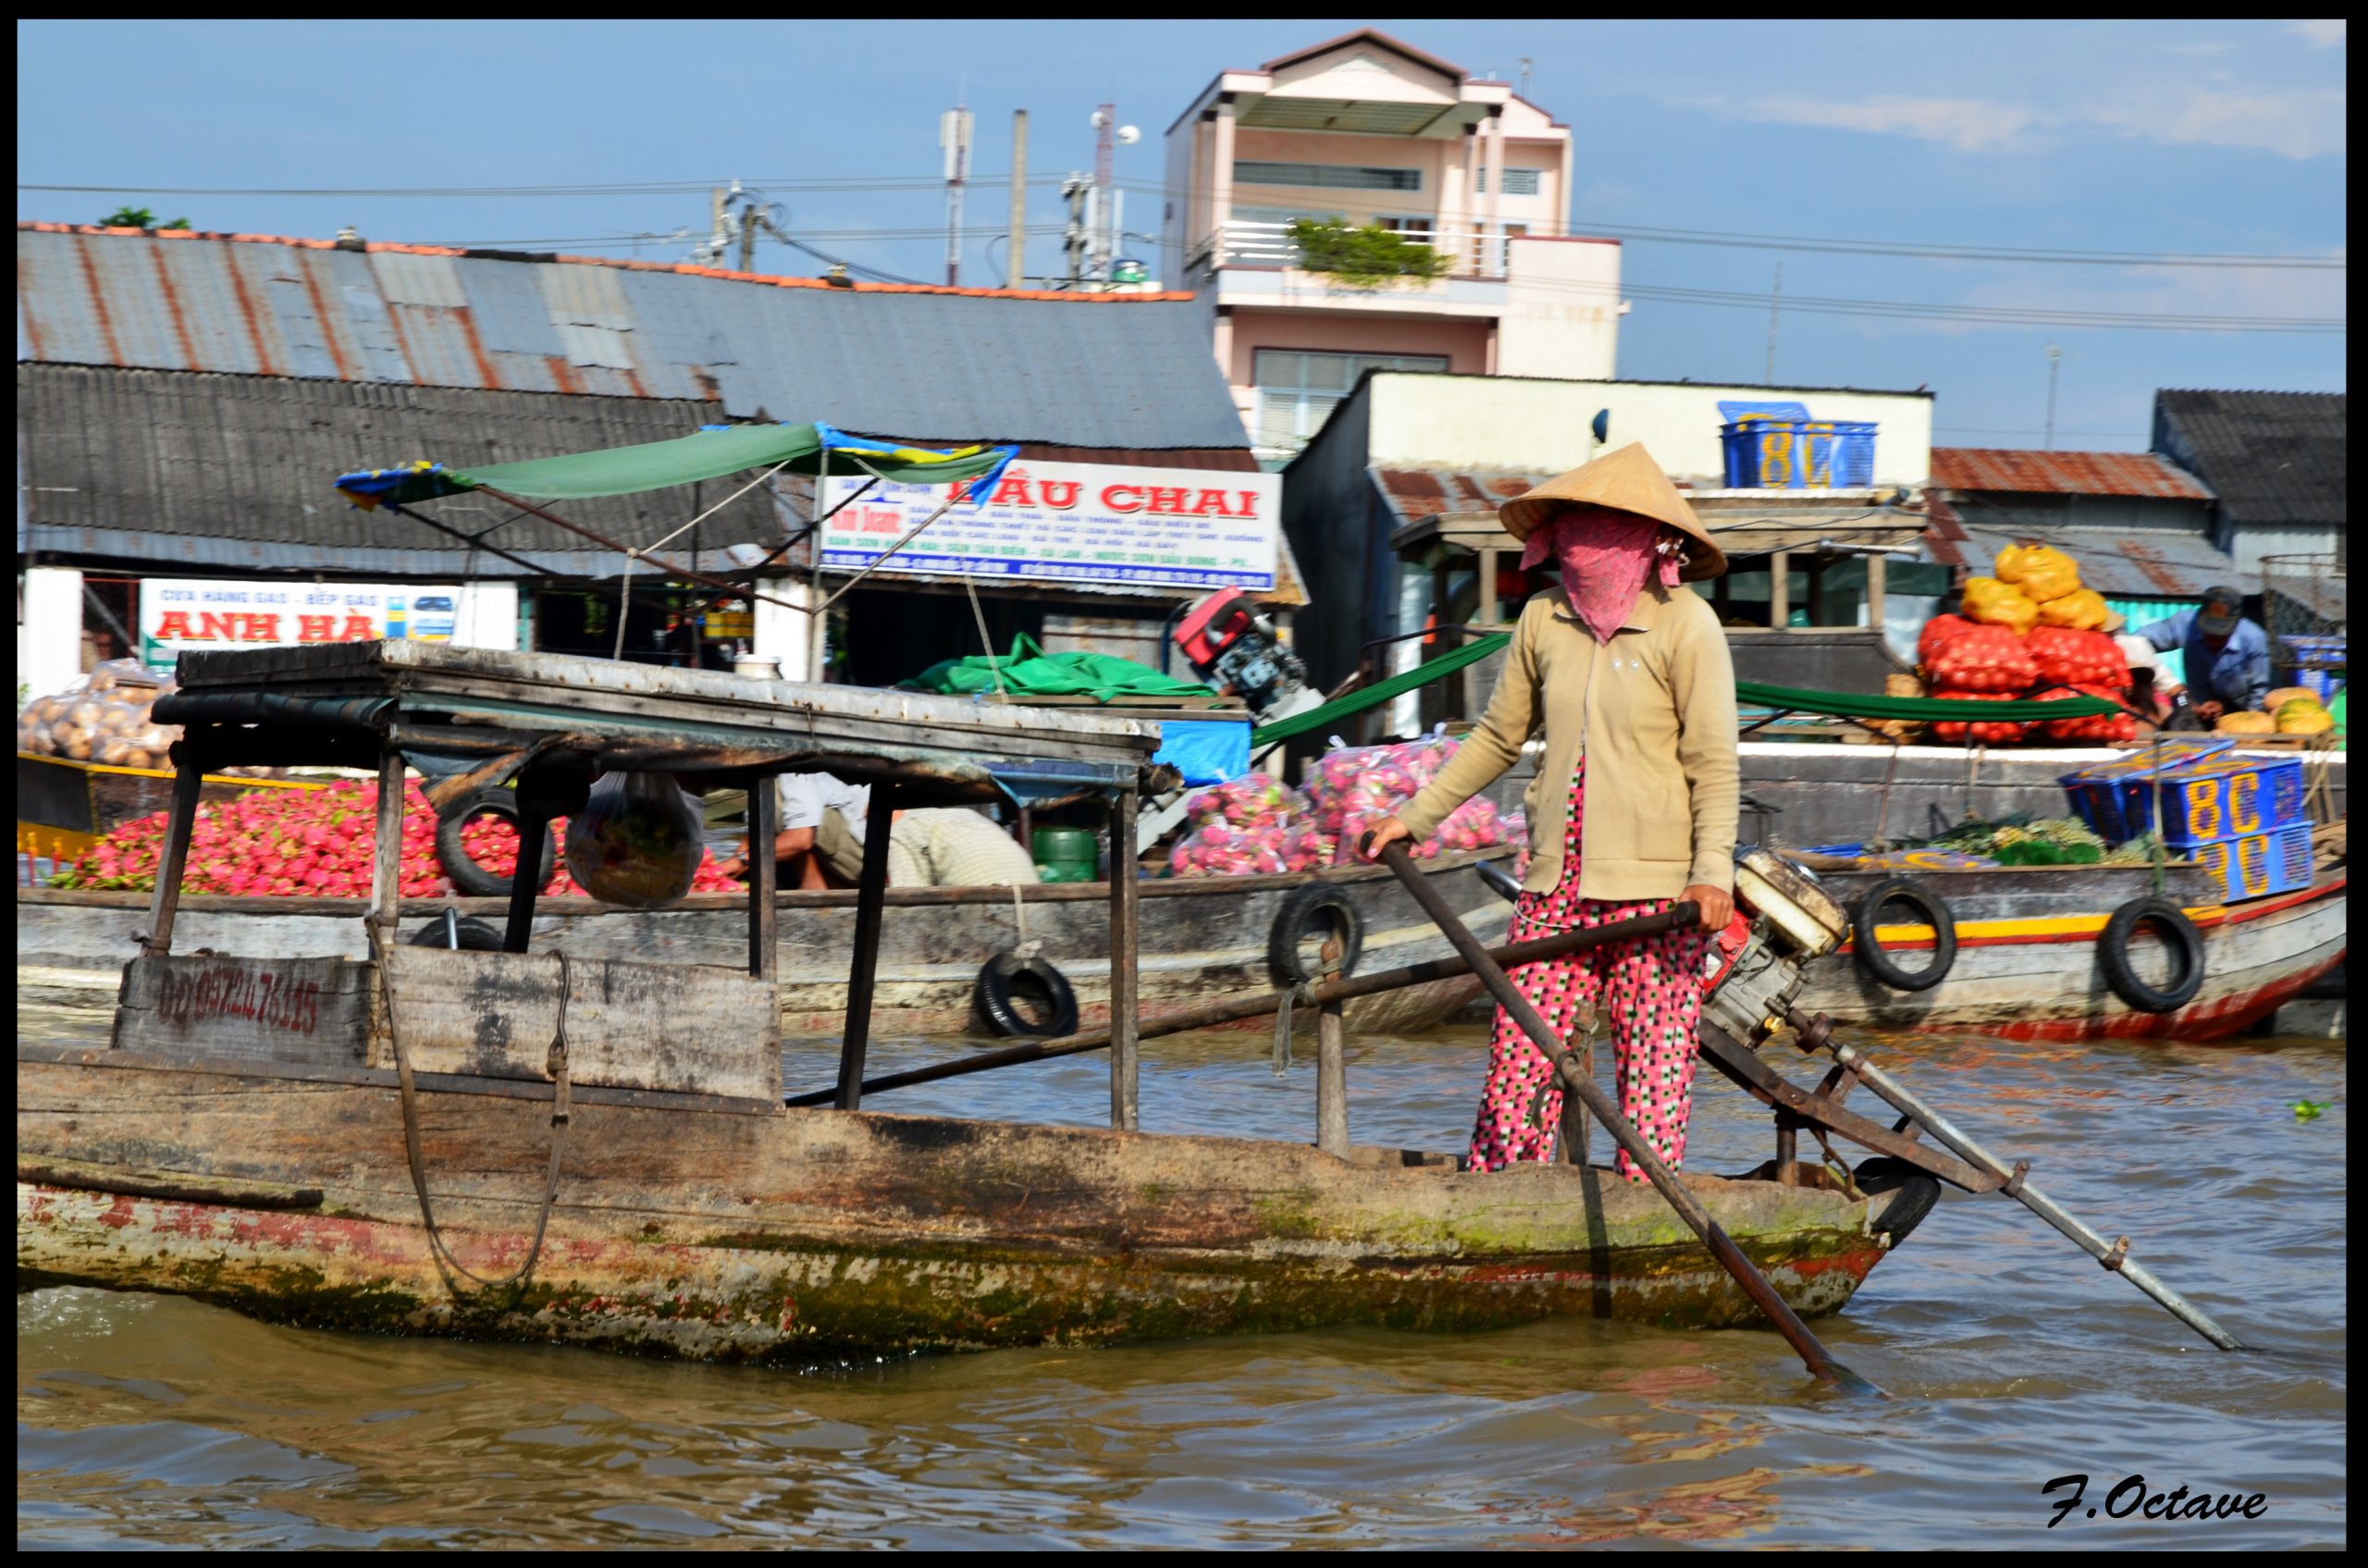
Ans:
[[[523,860],[511,876],[504,952],[526,952],[540,865],[554,817],[583,810],[601,772],[670,772],[708,789],[748,791],[748,973],[779,992],[774,841],[784,772],[831,770],[871,784],[857,881],[848,1018],[834,1104],[862,1104],[871,990],[888,893],[888,834],[897,810],[992,798],[1103,798],[1111,834],[1111,1125],[1139,1125],[1137,964],[1141,888],[1134,817],[1160,727],[1118,713],[1042,713],[919,692],[874,692],[713,670],[673,670],[559,654],[509,654],[436,642],[343,642],[187,654],[159,722],[173,746],[173,808],[144,947],[173,950],[173,917],[197,822],[199,786],[223,765],[374,767],[374,950],[400,914],[405,758],[474,763],[429,786],[436,805],[516,782]],[[774,1011],[779,1016],[779,1011]]]

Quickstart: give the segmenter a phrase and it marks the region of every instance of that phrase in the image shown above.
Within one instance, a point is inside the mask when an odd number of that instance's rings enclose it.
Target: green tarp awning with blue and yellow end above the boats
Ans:
[[[481,469],[450,469],[440,462],[365,469],[341,474],[336,488],[365,512],[377,509],[379,502],[419,502],[466,490],[502,490],[530,500],[583,500],[663,490],[748,469],[781,467],[784,474],[819,474],[824,457],[831,474],[879,474],[905,486],[950,486],[992,476],[1016,455],[1018,448],[947,452],[900,445],[848,436],[829,424],[710,424],[677,441],[497,462]]]

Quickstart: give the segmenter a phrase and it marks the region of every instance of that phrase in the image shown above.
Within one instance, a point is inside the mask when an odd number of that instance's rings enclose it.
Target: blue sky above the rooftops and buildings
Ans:
[[[1113,99],[1144,142],[1118,178],[1156,213],[1160,133],[1220,69],[1345,21],[485,21],[17,26],[19,218],[95,220],[118,201],[197,227],[516,242],[630,253],[628,234],[706,230],[696,189],[601,197],[175,197],[166,187],[474,187],[741,178],[791,232],[907,277],[942,275],[938,114],[978,116],[976,173],[1092,168],[1087,114]],[[1572,126],[1575,225],[1833,234],[1928,246],[2344,256],[2342,21],[1392,21],[1407,43],[1516,81]],[[836,180],[841,189],[791,187]],[[154,192],[154,194],[152,194]],[[971,197],[999,227],[1004,189]],[[1030,220],[1058,220],[1035,189]],[[845,237],[907,230],[912,237]],[[552,244],[566,242],[566,244]],[[1032,242],[1051,270],[1056,242]],[[642,242],[680,258],[680,242]],[[760,268],[819,263],[767,244]],[[1632,287],[1937,306],[2342,317],[2342,270],[2034,265],[1632,239]],[[964,282],[1002,279],[1002,242]],[[1620,374],[1757,381],[1764,306],[1639,296]],[[1939,441],[2039,445],[2046,346],[2063,348],[2060,448],[2145,445],[2157,386],[2342,388],[2342,334],[2001,327],[1809,315],[1778,327],[1776,379],[1932,386]]]

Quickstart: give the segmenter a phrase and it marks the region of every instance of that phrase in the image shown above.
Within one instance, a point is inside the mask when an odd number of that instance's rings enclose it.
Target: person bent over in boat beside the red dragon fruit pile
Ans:
[[[826,772],[784,772],[781,831],[772,841],[781,888],[852,888],[864,869],[871,786]],[[999,888],[1042,881],[1011,834],[961,805],[900,810],[888,831],[890,888]],[[725,862],[748,874],[748,846]]]

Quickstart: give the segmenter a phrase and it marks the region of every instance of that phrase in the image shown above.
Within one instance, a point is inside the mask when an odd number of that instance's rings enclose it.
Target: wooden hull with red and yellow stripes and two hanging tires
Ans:
[[[2167,1014],[2138,1011],[2105,983],[2096,962],[2103,912],[1958,921],[1956,964],[1923,992],[1866,978],[1845,945],[1809,964],[1800,1007],[1866,1028],[2006,1040],[2228,1040],[2344,962],[2342,876],[2190,917],[2205,940],[2205,981],[2193,1002]],[[1920,945],[1930,950],[1930,938]]]

